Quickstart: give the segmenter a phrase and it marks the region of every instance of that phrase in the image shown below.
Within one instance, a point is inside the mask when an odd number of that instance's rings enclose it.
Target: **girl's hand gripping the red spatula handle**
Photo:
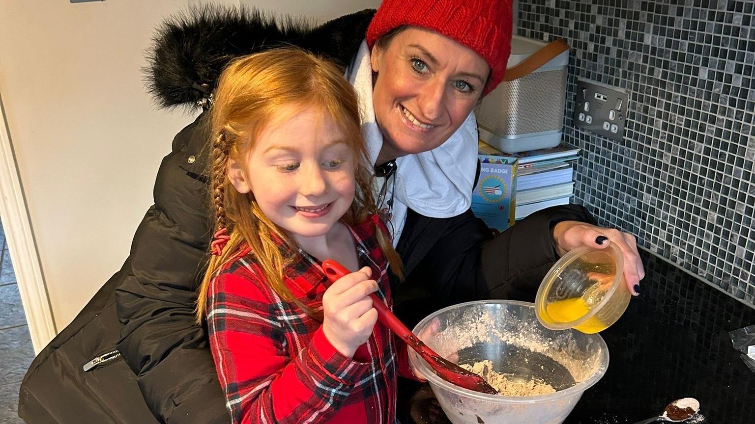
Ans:
[[[365,266],[339,278],[322,295],[322,332],[349,358],[370,338],[377,321],[377,310],[368,296],[377,291],[377,281],[369,279],[371,273]]]

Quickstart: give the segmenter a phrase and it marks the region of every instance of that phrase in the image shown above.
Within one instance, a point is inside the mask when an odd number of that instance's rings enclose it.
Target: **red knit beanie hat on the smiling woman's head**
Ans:
[[[501,82],[511,51],[511,0],[383,0],[367,29],[372,48],[398,26],[432,29],[479,54],[490,66],[482,95]]]

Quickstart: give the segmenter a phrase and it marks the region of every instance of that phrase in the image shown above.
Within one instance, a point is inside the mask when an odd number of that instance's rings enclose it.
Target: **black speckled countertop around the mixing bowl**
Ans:
[[[633,423],[687,397],[700,401],[704,419],[696,422],[755,423],[755,372],[729,339],[729,331],[755,324],[755,309],[652,253],[640,253],[646,269],[642,294],[600,333],[609,346],[609,369],[565,424]],[[427,384],[402,382],[401,392],[402,423],[448,423]]]

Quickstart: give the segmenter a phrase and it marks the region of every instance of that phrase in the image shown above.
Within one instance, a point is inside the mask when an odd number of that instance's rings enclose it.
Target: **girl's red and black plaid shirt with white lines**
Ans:
[[[392,308],[373,220],[350,231],[359,265],[372,269],[377,296]],[[303,251],[295,258],[285,284],[305,305],[320,305],[320,264]],[[380,322],[354,358],[341,355],[319,321],[270,288],[248,249],[220,269],[207,294],[210,347],[234,423],[396,422],[396,373],[412,375],[405,344]]]

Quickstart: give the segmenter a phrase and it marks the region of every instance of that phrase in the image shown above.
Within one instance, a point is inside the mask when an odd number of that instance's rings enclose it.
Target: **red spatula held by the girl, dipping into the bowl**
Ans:
[[[325,271],[325,275],[331,283],[335,282],[338,278],[349,274],[349,270],[344,268],[340,263],[333,260],[322,261],[322,270]],[[396,333],[401,340],[404,341],[411,349],[417,351],[420,356],[427,361],[427,364],[433,368],[436,374],[442,379],[445,379],[448,383],[455,384],[464,389],[474,390],[475,392],[488,393],[490,395],[497,395],[498,391],[493,389],[481,376],[471,371],[464,370],[451,361],[442,358],[433,349],[427,347],[426,344],[419,340],[401,321],[390,312],[383,301],[375,296],[375,293],[371,293],[372,307],[377,309],[377,320],[388,327],[393,333]]]

